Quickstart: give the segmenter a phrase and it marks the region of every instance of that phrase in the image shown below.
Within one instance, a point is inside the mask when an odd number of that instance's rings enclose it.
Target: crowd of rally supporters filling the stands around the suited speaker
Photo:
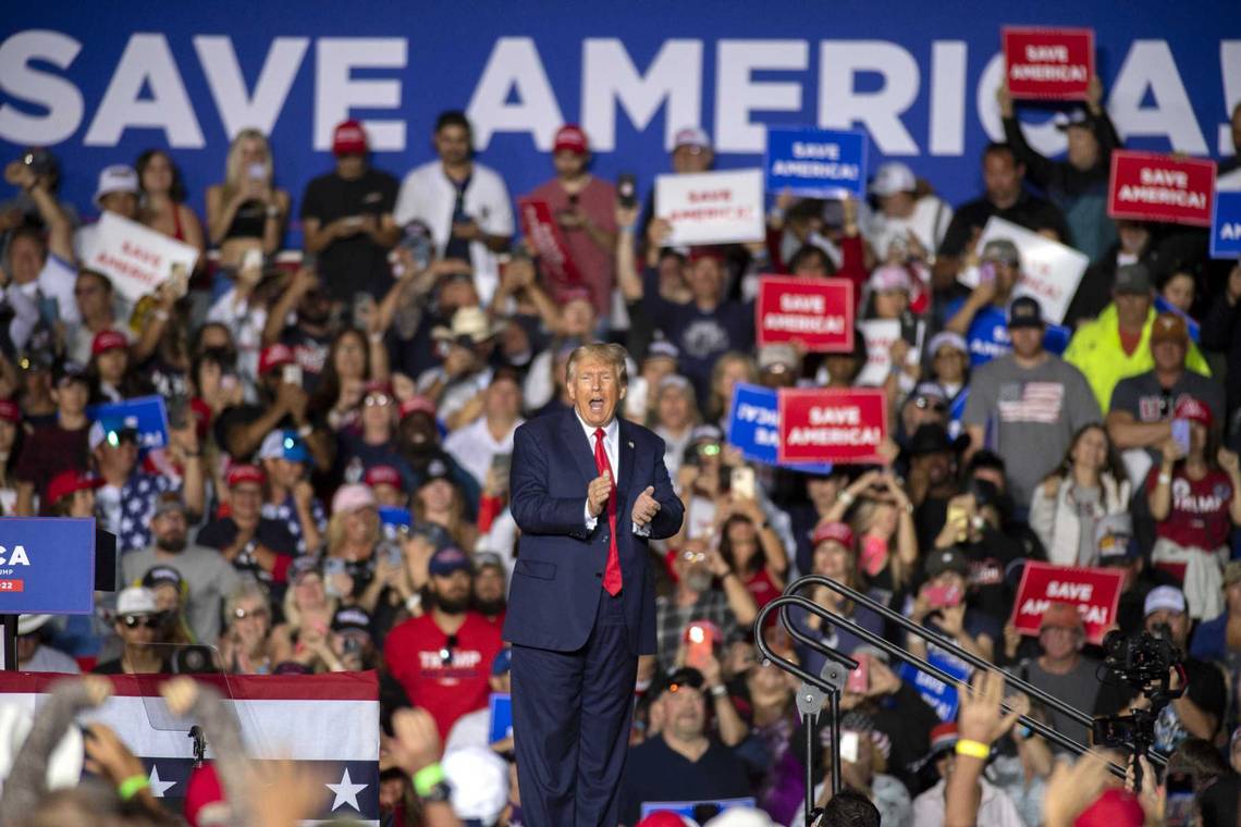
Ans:
[[[1016,104],[998,97],[1006,140],[983,153],[977,198],[949,205],[889,161],[865,201],[768,193],[766,239],[719,247],[666,244],[653,190],[644,205],[619,198],[591,172],[589,136],[565,125],[532,195],[560,226],[573,281],[515,238],[504,179],[474,156],[459,112],[433,125],[438,157],[403,180],[371,165],[360,123],[341,123],[334,166],[299,197],[280,188],[290,171],[264,135],[243,130],[202,213],[175,151],[118,159],[92,205],[69,205],[57,179],[73,159],[31,149],[5,169],[14,192],[0,205],[0,508],[94,517],[117,537],[118,591],[99,594],[94,616],[22,616],[20,668],[187,672],[197,652],[238,674],[377,670],[383,823],[524,823],[515,772],[473,796],[494,805],[485,812],[454,815],[460,791],[423,770],[468,749],[511,766],[513,738],[489,743],[486,709],[511,688],[508,584],[537,577],[515,572],[514,431],[570,405],[575,348],[618,342],[623,415],[664,440],[685,505],[680,532],[650,544],[659,653],[643,657],[634,687],[622,825],[689,821],[644,803],[724,800],[750,807],[699,820],[804,823],[807,727],[824,823],[1036,827],[1087,808],[1096,821],[1076,823],[1157,818],[1159,789],[1111,789],[1096,759],[1014,725],[985,673],[959,714],[946,712],[848,624],[797,617],[862,663],[841,702],[848,790],[833,797],[828,717],[802,720],[798,681],[756,658],[759,609],[813,573],[1087,713],[1145,703],[1100,679],[1102,652],[1076,608],[1052,604],[1036,636],[1018,632],[1026,560],[1123,573],[1116,626],[1163,636],[1185,658],[1185,692],[1159,714],[1154,746],[1169,772],[1191,776],[1204,818],[1212,796],[1235,805],[1241,265],[1210,260],[1203,229],[1107,216],[1122,141],[1097,83],[1061,125],[1064,159],[1033,149]],[[1241,107],[1231,128],[1241,150]],[[674,143],[671,172],[712,169],[704,130]],[[665,171],[644,170],[640,188]],[[97,224],[79,212],[182,241],[200,265],[130,303],[87,265]],[[1013,241],[979,248],[993,216],[1090,257],[1064,325],[1019,293]],[[278,255],[294,237],[300,255]],[[882,465],[803,472],[730,443],[738,383],[846,388],[867,363],[861,335],[843,353],[756,347],[763,274],[849,279],[859,321],[923,330],[892,345],[877,382],[891,417]],[[146,396],[165,400],[160,446],[117,407]],[[808,596],[963,665],[830,589]],[[758,631],[783,657],[822,666],[781,625]],[[1010,701],[1090,738],[1057,710]],[[0,821],[71,823],[55,815],[66,801],[30,800]],[[1236,812],[1224,801],[1219,812]],[[115,823],[158,818],[125,817]]]

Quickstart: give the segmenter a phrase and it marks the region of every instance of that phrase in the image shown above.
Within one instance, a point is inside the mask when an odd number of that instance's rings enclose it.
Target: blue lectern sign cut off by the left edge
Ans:
[[[0,615],[94,611],[94,520],[0,520]]]

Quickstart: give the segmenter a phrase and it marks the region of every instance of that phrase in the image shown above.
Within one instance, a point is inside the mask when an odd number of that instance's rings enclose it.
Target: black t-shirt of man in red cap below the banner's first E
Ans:
[[[325,227],[349,216],[392,214],[398,186],[395,177],[374,169],[352,181],[336,172],[320,175],[307,185],[302,219],[318,218],[319,226]],[[360,291],[380,299],[392,286],[387,249],[366,233],[329,244],[319,253],[318,268],[325,289],[338,301],[350,301]]]

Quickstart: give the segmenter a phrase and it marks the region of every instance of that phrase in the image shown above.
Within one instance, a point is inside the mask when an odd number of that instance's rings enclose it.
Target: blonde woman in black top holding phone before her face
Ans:
[[[264,257],[280,248],[289,193],[274,185],[272,150],[257,129],[233,138],[225,181],[207,188],[207,238],[220,247],[220,265],[236,268],[248,250]]]

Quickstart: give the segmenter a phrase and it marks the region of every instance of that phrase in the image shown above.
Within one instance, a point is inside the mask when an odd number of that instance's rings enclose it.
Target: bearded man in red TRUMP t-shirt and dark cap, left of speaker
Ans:
[[[491,661],[504,646],[500,629],[469,609],[470,560],[442,548],[428,564],[429,611],[388,632],[383,660],[410,702],[436,719],[446,738],[458,718],[488,703]]]

